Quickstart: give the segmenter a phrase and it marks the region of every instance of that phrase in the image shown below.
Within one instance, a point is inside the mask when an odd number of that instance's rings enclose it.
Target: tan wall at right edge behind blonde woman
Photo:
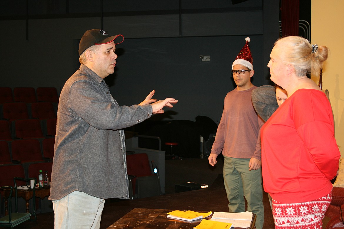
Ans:
[[[330,55],[323,67],[323,90],[329,90],[335,137],[344,157],[344,1],[312,0],[311,43],[326,45]],[[318,81],[316,81],[318,82]]]

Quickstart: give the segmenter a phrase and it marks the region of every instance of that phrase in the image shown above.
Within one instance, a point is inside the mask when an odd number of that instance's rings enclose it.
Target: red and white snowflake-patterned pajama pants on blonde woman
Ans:
[[[332,191],[314,201],[283,204],[272,199],[276,229],[322,229],[322,219],[330,206]]]

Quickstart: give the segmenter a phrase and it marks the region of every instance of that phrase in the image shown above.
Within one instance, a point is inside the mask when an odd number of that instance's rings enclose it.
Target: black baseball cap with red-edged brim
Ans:
[[[86,49],[88,49],[92,45],[108,44],[118,37],[119,39],[118,41],[115,41],[115,45],[120,44],[124,41],[123,35],[118,34],[116,36],[110,36],[107,32],[99,28],[87,30],[79,43],[79,55],[81,55]]]

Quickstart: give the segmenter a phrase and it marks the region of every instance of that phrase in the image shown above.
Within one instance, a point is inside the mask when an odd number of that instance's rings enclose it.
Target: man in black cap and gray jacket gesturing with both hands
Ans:
[[[153,90],[138,105],[118,105],[103,79],[114,72],[122,41],[122,35],[86,31],[80,68],[61,91],[49,196],[56,229],[99,228],[105,199],[129,199],[123,129],[178,102],[152,99]]]

